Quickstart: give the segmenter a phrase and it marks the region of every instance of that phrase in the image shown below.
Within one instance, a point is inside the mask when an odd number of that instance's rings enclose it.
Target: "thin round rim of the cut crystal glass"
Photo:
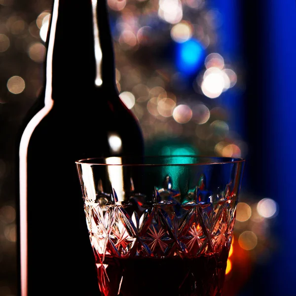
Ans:
[[[165,159],[165,158],[200,158],[209,159],[210,161],[197,162],[197,163],[102,163],[98,160],[106,160],[110,158],[123,158],[123,159]],[[215,161],[216,160],[216,161]],[[217,165],[217,164],[230,164],[230,163],[244,163],[245,158],[241,157],[227,157],[227,156],[206,156],[206,155],[144,155],[144,156],[110,156],[110,157],[90,157],[82,158],[75,161],[76,165],[102,165],[102,166],[200,166],[200,165]]]

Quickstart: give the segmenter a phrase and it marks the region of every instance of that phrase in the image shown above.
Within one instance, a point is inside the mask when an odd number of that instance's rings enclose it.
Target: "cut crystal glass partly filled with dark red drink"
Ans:
[[[104,296],[221,296],[244,160],[76,161]]]

